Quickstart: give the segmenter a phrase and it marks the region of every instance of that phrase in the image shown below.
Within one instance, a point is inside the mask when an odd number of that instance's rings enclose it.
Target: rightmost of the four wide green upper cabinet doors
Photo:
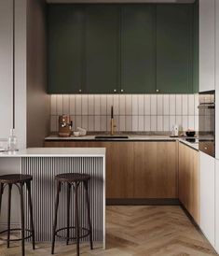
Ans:
[[[193,5],[157,5],[157,90],[193,92]]]

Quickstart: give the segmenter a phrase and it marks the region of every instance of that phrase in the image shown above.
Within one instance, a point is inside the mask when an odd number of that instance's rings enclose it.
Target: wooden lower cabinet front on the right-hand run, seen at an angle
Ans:
[[[198,151],[179,143],[179,199],[199,223]]]

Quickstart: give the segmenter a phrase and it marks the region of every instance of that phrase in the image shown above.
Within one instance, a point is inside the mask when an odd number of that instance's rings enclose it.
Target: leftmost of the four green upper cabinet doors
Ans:
[[[82,87],[84,7],[48,5],[48,93]]]

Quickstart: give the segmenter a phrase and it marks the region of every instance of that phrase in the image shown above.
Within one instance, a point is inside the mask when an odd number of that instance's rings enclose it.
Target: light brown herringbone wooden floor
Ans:
[[[81,255],[101,256],[204,256],[217,255],[179,206],[107,206],[106,244],[89,250],[81,245]],[[37,244],[26,255],[48,256],[50,244]],[[57,243],[56,255],[75,255],[75,245]],[[20,244],[10,249],[0,245],[0,256],[21,255]]]

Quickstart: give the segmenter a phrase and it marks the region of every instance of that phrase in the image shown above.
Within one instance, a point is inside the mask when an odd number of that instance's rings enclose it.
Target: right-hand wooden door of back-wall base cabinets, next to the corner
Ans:
[[[134,142],[134,197],[177,198],[175,142]]]

